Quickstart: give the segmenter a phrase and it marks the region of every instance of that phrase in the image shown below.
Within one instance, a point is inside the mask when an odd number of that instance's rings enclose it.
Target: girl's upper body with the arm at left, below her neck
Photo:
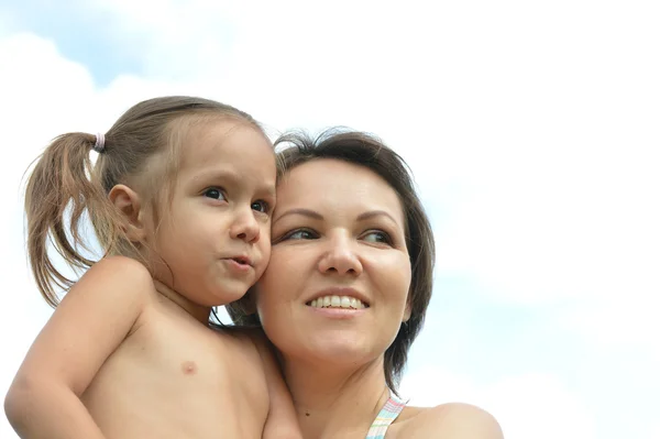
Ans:
[[[100,314],[106,318],[97,319]],[[134,261],[95,265],[35,347],[12,386],[13,400],[47,414],[44,427],[61,428],[38,430],[29,416],[12,418],[20,435],[30,427],[31,438],[262,437],[268,388],[255,345],[191,318]],[[74,350],[87,353],[72,362],[66,353]],[[108,350],[114,352],[103,359]],[[51,367],[38,367],[44,361]]]

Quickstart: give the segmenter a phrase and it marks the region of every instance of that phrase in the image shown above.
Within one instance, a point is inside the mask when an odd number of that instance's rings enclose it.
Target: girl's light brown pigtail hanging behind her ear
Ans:
[[[84,133],[56,138],[28,180],[28,256],[36,286],[53,307],[59,303],[55,287],[68,290],[75,281],[65,276],[48,256],[48,241],[72,268],[88,268],[94,261],[80,252],[89,251],[80,220],[86,210],[92,222],[98,208],[111,210],[98,179],[90,179],[94,173],[89,152],[95,141],[94,135]],[[68,227],[66,217],[70,218]]]

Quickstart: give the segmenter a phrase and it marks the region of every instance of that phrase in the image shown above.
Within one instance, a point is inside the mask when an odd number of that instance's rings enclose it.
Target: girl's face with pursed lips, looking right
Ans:
[[[172,204],[154,231],[156,278],[194,304],[241,298],[271,254],[275,157],[265,136],[220,119],[190,129]]]

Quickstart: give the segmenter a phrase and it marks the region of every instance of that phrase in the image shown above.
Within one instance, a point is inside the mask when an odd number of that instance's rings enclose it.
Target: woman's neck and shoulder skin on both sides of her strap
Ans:
[[[304,438],[364,439],[389,397],[381,361],[356,371],[292,363],[285,373]],[[404,408],[385,438],[503,439],[504,436],[487,411],[469,404],[449,403]]]

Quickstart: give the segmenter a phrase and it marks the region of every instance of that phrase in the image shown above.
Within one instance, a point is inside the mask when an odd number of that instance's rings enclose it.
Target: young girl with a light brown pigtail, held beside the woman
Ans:
[[[105,135],[55,139],[25,208],[36,284],[57,308],[6,398],[19,436],[300,437],[266,344],[208,325],[264,272],[274,204],[271,142],[222,103],[152,99]],[[106,253],[97,263],[80,251],[86,212]],[[78,282],[51,244],[89,268]],[[56,288],[68,289],[61,304]]]

